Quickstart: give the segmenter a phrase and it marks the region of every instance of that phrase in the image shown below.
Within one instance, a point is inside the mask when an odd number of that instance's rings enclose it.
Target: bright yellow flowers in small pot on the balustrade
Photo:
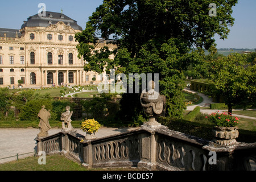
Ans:
[[[95,133],[100,129],[101,125],[94,119],[82,119],[81,130],[86,132],[87,139],[96,138]]]

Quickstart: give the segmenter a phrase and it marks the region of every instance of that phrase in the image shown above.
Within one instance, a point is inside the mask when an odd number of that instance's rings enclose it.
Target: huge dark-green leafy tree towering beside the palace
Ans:
[[[210,3],[216,16],[210,16]],[[212,50],[213,36],[227,38],[233,25],[232,7],[237,0],[109,0],[89,17],[84,31],[76,35],[79,56],[88,64],[85,71],[103,72],[118,67],[118,73],[159,73],[160,93],[166,96],[166,114],[180,118],[185,105],[181,91],[188,65],[203,60],[204,49]],[[114,50],[98,49],[98,38],[113,36]],[[110,42],[111,43],[111,42]],[[191,49],[192,48],[192,49]],[[114,55],[114,60],[109,59]],[[141,111],[138,94],[125,94],[122,106],[131,118]],[[137,103],[134,103],[137,100]],[[130,106],[130,105],[129,105]]]

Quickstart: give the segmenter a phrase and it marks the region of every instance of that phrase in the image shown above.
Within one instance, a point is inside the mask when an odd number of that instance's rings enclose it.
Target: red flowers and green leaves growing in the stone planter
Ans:
[[[208,120],[212,122],[215,126],[224,126],[224,127],[234,127],[237,126],[238,121],[240,118],[237,118],[236,116],[233,117],[232,115],[229,115],[228,113],[212,113],[208,117]]]

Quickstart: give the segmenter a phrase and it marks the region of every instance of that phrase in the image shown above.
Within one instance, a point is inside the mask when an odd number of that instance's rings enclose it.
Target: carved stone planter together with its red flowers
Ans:
[[[210,122],[213,123],[213,142],[224,146],[231,146],[236,144],[236,138],[239,135],[238,121],[240,118],[233,117],[230,113],[212,113],[208,117]]]

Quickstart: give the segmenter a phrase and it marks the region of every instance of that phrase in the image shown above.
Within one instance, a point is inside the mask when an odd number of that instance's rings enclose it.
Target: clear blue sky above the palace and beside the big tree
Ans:
[[[86,22],[103,0],[1,0],[0,27],[20,29],[24,20],[38,14],[41,7],[46,5],[46,11],[54,11],[75,19],[85,29]],[[218,13],[218,12],[217,12]],[[220,40],[214,36],[217,48],[256,48],[256,0],[238,0],[233,7],[234,26],[230,27],[228,39]]]

